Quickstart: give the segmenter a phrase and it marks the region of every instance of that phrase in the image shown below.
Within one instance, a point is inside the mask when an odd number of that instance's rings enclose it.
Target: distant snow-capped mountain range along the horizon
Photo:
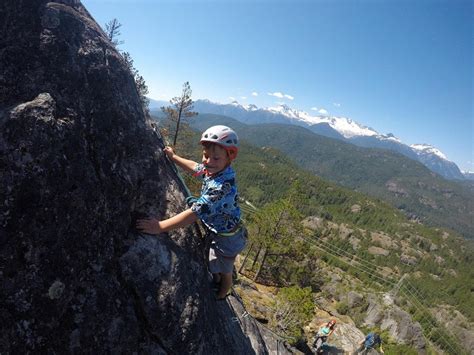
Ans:
[[[404,144],[393,134],[380,134],[350,118],[325,115],[310,115],[287,105],[258,108],[256,105],[241,105],[237,101],[219,104],[209,100],[197,100],[194,109],[200,113],[213,113],[235,118],[243,123],[284,123],[306,127],[313,132],[337,138],[366,148],[381,148],[396,151],[417,160],[430,170],[447,179],[465,179],[458,166],[449,161],[439,150],[427,144]]]

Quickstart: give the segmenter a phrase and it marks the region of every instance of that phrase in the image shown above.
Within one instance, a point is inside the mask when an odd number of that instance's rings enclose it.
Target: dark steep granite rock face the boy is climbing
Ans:
[[[185,196],[80,1],[3,0],[0,29],[1,352],[266,353],[213,299],[196,226],[132,227]]]

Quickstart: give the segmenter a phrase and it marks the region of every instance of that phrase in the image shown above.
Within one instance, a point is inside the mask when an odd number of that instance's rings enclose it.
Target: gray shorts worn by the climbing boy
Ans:
[[[222,237],[211,233],[211,247],[209,248],[209,270],[213,274],[232,273],[237,254],[245,248],[247,243],[247,230],[241,231],[231,237]]]

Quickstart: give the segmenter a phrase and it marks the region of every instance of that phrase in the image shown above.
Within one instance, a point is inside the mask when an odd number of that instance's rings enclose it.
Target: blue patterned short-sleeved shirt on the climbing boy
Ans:
[[[194,169],[202,171],[204,164]],[[191,210],[215,233],[228,233],[240,222],[235,171],[228,166],[215,176],[201,175],[201,196]]]

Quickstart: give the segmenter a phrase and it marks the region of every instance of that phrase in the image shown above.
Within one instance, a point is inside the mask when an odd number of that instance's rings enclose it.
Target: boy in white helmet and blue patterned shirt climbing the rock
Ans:
[[[175,154],[166,147],[166,155],[183,170],[202,179],[201,196],[191,207],[174,217],[139,219],[137,228],[159,234],[185,227],[200,219],[211,237],[209,269],[219,285],[216,299],[223,300],[232,287],[234,261],[246,244],[246,230],[241,224],[235,172],[231,167],[237,157],[239,139],[227,126],[208,128],[201,137],[202,163]]]

